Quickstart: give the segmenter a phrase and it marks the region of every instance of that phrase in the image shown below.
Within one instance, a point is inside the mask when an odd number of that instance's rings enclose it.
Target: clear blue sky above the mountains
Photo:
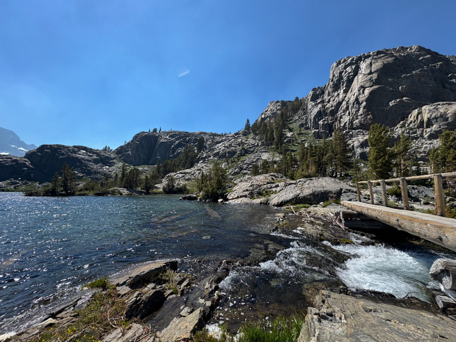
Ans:
[[[0,126],[116,148],[149,128],[235,132],[331,64],[421,45],[456,55],[456,2],[0,0]]]

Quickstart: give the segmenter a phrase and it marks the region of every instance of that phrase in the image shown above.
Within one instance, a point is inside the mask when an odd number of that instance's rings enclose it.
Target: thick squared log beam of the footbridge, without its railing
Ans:
[[[341,204],[365,216],[456,252],[456,219],[361,202],[342,201]]]

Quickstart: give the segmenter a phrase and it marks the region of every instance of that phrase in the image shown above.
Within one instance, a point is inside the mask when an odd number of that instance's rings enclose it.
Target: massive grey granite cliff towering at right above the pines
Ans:
[[[412,136],[429,141],[456,126],[450,109],[456,102],[456,59],[420,46],[346,57],[332,65],[328,83],[312,89],[302,101],[291,121],[318,139],[342,127],[358,157],[366,157],[370,125],[379,123],[400,132],[416,126],[411,123],[419,120],[420,113],[432,111],[426,127],[421,124]],[[270,102],[258,120],[279,112],[280,102]]]

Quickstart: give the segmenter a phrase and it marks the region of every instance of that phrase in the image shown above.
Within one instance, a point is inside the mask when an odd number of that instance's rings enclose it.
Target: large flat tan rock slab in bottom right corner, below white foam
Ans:
[[[320,290],[298,342],[456,341],[456,322],[420,309],[375,303]]]

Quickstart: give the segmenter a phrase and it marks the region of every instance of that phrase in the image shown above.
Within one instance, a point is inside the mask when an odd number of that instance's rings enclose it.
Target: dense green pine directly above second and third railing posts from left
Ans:
[[[367,141],[369,143],[369,171],[377,179],[388,179],[392,171],[392,153],[389,149],[389,129],[386,126],[370,126]]]

